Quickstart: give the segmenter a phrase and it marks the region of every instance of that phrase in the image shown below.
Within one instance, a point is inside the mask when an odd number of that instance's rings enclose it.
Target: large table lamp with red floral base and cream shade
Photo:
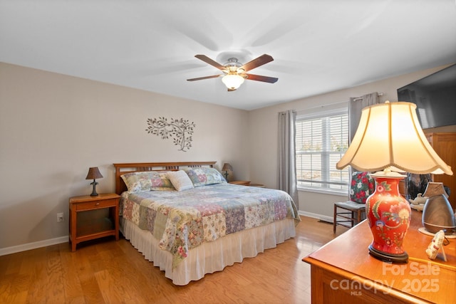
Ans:
[[[361,119],[351,145],[336,164],[358,171],[375,172],[375,192],[366,200],[373,242],[371,256],[381,261],[407,263],[403,239],[410,226],[410,204],[399,194],[405,175],[449,174],[451,167],[432,149],[420,127],[414,103],[395,102],[371,105]]]

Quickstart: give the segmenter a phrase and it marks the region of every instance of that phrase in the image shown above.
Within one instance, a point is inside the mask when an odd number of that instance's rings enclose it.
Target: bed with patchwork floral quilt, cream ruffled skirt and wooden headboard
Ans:
[[[296,235],[289,194],[226,182],[215,162],[117,163],[120,231],[175,285]]]

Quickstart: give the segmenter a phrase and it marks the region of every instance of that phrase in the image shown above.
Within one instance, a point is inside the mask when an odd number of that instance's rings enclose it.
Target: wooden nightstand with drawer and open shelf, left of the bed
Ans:
[[[83,195],[70,198],[70,242],[71,251],[82,241],[115,236],[119,239],[119,199],[115,193]],[[109,209],[109,215],[93,216],[98,209]],[[91,212],[91,214],[90,214]],[[85,218],[85,219],[84,219]]]

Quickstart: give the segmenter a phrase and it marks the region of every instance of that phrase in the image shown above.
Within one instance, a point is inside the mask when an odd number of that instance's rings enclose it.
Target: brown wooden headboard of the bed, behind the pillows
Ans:
[[[216,162],[125,162],[114,164],[115,167],[115,193],[122,194],[127,191],[122,174],[144,171],[177,171],[182,168],[213,167]]]

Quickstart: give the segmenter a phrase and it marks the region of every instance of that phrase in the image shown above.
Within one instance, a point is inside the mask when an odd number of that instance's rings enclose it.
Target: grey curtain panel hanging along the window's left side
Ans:
[[[290,194],[299,210],[296,181],[296,111],[279,112],[279,189]]]

